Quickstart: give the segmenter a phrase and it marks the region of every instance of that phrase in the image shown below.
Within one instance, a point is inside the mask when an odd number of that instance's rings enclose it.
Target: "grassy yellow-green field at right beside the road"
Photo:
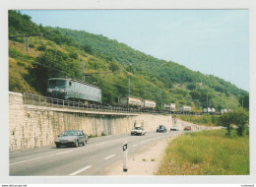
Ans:
[[[157,175],[248,175],[249,137],[224,130],[186,133],[168,143]]]

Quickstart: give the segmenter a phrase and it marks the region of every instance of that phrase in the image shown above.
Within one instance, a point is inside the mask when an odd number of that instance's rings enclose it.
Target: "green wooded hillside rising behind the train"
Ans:
[[[201,111],[207,94],[211,106],[229,108],[239,105],[237,98],[247,94],[224,80],[195,72],[171,61],[164,61],[134,50],[126,44],[86,31],[37,26],[31,18],[9,11],[9,35],[31,36],[29,54],[24,37],[9,37],[9,90],[46,94],[51,77],[82,79],[86,62],[86,81],[102,90],[104,104],[117,104],[118,96],[128,94],[160,102],[192,105]],[[18,71],[17,71],[18,70]],[[104,74],[104,72],[108,72]],[[110,73],[109,73],[110,72]]]

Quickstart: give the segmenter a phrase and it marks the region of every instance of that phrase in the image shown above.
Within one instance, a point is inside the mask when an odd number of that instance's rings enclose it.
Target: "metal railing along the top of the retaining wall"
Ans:
[[[48,106],[56,108],[79,109],[88,111],[104,111],[119,113],[151,113],[151,114],[171,114],[171,111],[145,110],[139,108],[124,108],[120,106],[85,104],[83,102],[41,96],[37,94],[24,93],[24,103],[38,106]]]

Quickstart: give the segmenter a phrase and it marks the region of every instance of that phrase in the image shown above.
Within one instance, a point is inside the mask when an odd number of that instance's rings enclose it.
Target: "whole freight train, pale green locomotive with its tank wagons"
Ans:
[[[100,104],[101,90],[84,81],[71,78],[51,78],[47,81],[47,94],[51,97],[68,99],[85,104]],[[118,99],[118,104],[125,107],[155,110],[157,103],[151,99],[140,98],[131,95],[124,95]],[[175,103],[164,103],[163,110],[171,113],[194,113],[191,106],[179,105],[177,110]],[[215,108],[204,108],[203,113],[215,113]],[[226,112],[222,111],[222,114]]]

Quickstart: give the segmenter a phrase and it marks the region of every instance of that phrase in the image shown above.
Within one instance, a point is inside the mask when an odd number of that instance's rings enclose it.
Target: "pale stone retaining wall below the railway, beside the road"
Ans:
[[[54,144],[62,131],[81,129],[88,135],[128,134],[134,121],[144,121],[147,132],[172,125],[170,115],[121,114],[27,105],[23,94],[9,93],[10,152]],[[181,127],[181,126],[180,126]]]

